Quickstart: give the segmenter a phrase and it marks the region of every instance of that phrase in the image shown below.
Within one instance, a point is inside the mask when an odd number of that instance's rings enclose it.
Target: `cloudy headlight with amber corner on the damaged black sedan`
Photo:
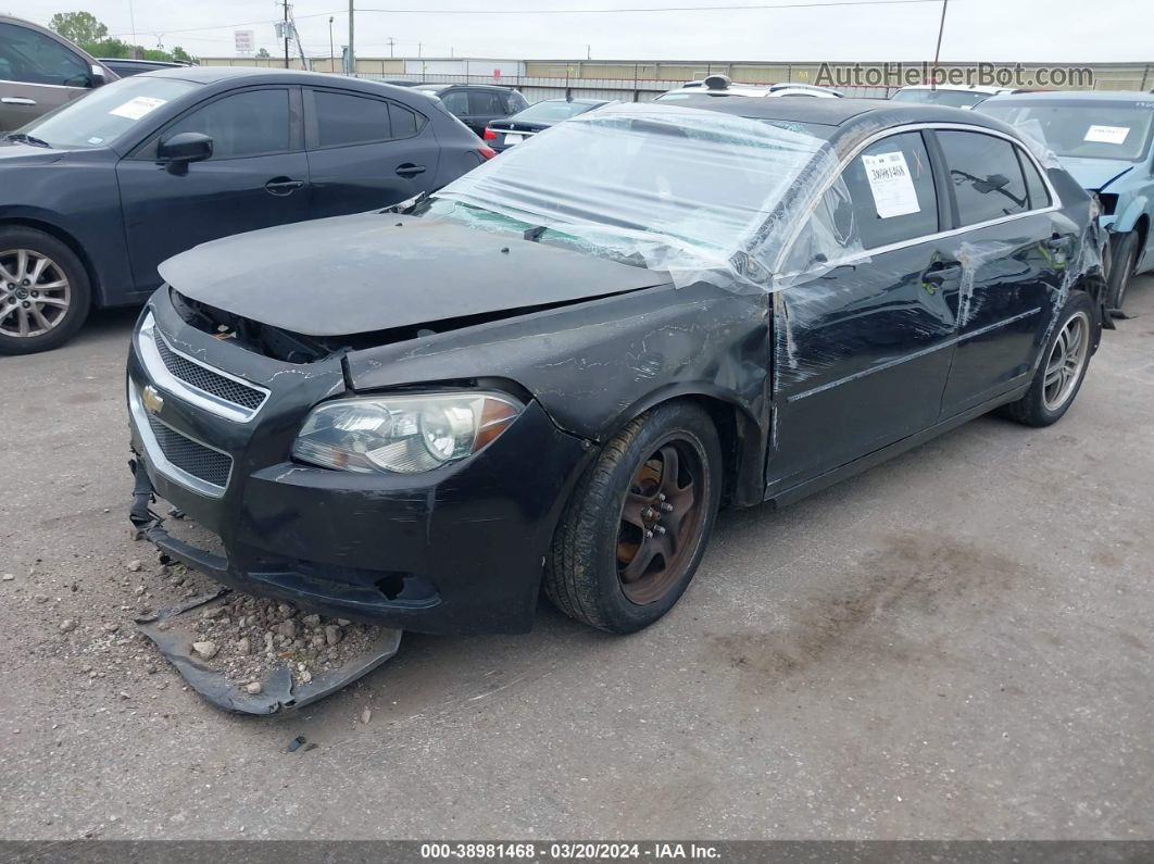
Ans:
[[[523,408],[494,393],[337,399],[313,410],[292,454],[340,471],[415,474],[475,453]]]

